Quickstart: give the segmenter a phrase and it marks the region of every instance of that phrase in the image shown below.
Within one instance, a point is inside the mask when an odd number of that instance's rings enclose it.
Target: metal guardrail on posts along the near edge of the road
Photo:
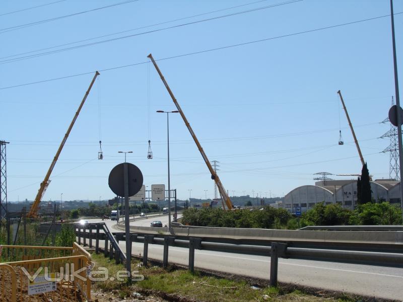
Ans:
[[[96,225],[96,223],[95,223]],[[96,226],[99,230],[99,226]],[[165,229],[166,228],[149,228],[149,229]],[[81,241],[81,233],[78,232],[79,242]],[[113,235],[112,235],[113,236]],[[168,265],[168,251],[169,246],[177,246],[189,249],[189,270],[194,270],[194,250],[203,249],[208,251],[221,251],[221,252],[234,252],[245,255],[262,255],[271,257],[271,273],[270,273],[270,285],[277,285],[277,273],[278,273],[278,258],[295,258],[295,259],[311,259],[322,260],[332,262],[343,263],[360,263],[367,265],[381,265],[391,267],[403,267],[403,250],[400,248],[400,253],[385,253],[385,252],[368,252],[360,250],[342,250],[342,249],[320,249],[312,245],[310,248],[296,248],[287,243],[279,243],[276,241],[260,242],[260,245],[251,245],[243,241],[238,243],[227,243],[226,239],[217,240],[211,242],[206,238],[196,237],[183,237],[172,236],[170,234],[140,234],[132,233],[130,238],[125,237],[125,233],[116,233],[114,235],[116,241],[119,240],[132,242],[143,242],[143,264],[147,265],[148,261],[148,245],[158,244],[164,246],[163,251],[163,266]],[[84,237],[85,238],[85,237]],[[99,234],[96,238],[96,245],[98,246]],[[84,239],[85,240],[85,239]],[[92,240],[90,239],[90,242]],[[91,243],[92,244],[92,243]],[[339,248],[344,247],[345,243],[340,243]],[[107,247],[107,244],[105,244]],[[115,250],[115,258],[118,254],[122,253],[121,250]],[[105,249],[105,257],[107,251]],[[110,258],[113,258],[113,251],[110,249]]]

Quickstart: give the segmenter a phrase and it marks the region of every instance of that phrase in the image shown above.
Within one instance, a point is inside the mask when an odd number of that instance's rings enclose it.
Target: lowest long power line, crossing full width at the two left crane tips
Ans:
[[[400,15],[400,14],[403,14],[403,12],[395,13],[394,15]],[[239,43],[239,44],[232,44],[232,45],[227,45],[227,46],[222,46],[222,47],[217,47],[217,48],[211,48],[211,49],[206,49],[206,50],[189,52],[189,53],[185,53],[185,54],[179,54],[179,55],[175,55],[175,56],[156,59],[156,61],[176,59],[176,58],[180,58],[180,57],[184,57],[184,56],[190,56],[190,55],[195,55],[195,54],[200,54],[200,53],[206,53],[206,52],[210,52],[210,51],[217,51],[217,50],[222,50],[222,49],[227,49],[227,48],[232,48],[232,47],[238,47],[238,46],[244,46],[244,45],[249,45],[249,44],[254,44],[254,43],[259,43],[259,42],[264,42],[264,41],[270,41],[270,40],[285,38],[285,37],[297,36],[297,35],[301,35],[301,34],[306,34],[306,33],[311,33],[311,32],[331,29],[331,28],[337,28],[337,27],[341,27],[341,26],[347,26],[347,25],[352,25],[352,24],[357,24],[357,23],[362,23],[362,22],[367,22],[367,21],[372,21],[372,20],[376,20],[376,19],[380,19],[380,18],[389,17],[389,16],[390,15],[384,15],[384,16],[379,16],[379,17],[374,17],[374,18],[363,19],[363,20],[359,20],[359,21],[353,21],[353,22],[342,23],[342,24],[338,24],[338,25],[332,25],[332,26],[316,28],[316,29],[297,32],[297,33],[292,33],[292,34],[286,34],[286,35],[282,35],[282,36],[276,36],[276,37],[265,38],[265,39],[260,39],[260,40],[248,41],[248,42]],[[121,65],[121,66],[115,66],[115,67],[106,68],[106,69],[100,69],[99,71],[109,71],[109,70],[120,69],[120,68],[125,68],[125,67],[137,66],[137,65],[146,64],[146,63],[148,63],[148,61],[143,61],[143,62],[138,62],[138,63],[133,63],[133,64],[127,64],[127,65]],[[92,74],[94,72],[95,71],[83,72],[83,73],[66,75],[65,77],[52,78],[52,79],[36,81],[36,82],[29,82],[29,83],[13,85],[13,86],[6,86],[6,87],[0,88],[0,90],[17,88],[17,87],[22,87],[22,86],[34,85],[34,84],[40,84],[40,83],[46,83],[46,82],[63,80],[63,79],[68,79],[68,78],[74,78],[74,77],[79,77],[80,75]]]

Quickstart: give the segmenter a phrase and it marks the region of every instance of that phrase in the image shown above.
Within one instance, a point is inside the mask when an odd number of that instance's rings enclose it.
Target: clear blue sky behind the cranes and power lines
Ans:
[[[175,108],[156,70],[147,63],[149,53],[156,59],[169,58],[390,13],[388,0],[139,0],[10,31],[17,25],[120,3],[65,0],[3,15],[50,2],[0,4],[0,139],[10,141],[10,201],[35,197],[93,78],[88,72],[146,62],[101,71],[53,170],[44,200],[58,200],[60,193],[63,200],[112,198],[107,181],[110,170],[124,161],[119,150],[133,152],[127,161],[142,170],[145,185],[167,184],[166,116],[155,111]],[[275,4],[282,5],[269,7]],[[256,8],[262,9],[245,12]],[[218,12],[205,14],[214,11]],[[195,15],[205,14],[49,50],[237,12],[244,13],[6,61],[25,56],[11,55]],[[403,3],[395,1],[394,13],[401,12]],[[396,15],[399,71],[402,23],[403,14]],[[256,196],[261,192],[261,196],[282,196],[295,187],[313,184],[317,172],[360,173],[361,162],[338,90],[370,173],[374,178],[389,177],[389,154],[381,153],[389,140],[378,137],[389,129],[379,122],[387,117],[394,95],[390,17],[160,60],[158,64],[210,161],[220,161],[219,175],[230,195]],[[87,74],[8,88],[81,73]],[[343,146],[338,145],[339,120]],[[97,160],[100,139],[102,161]],[[149,139],[153,160],[146,158]],[[192,198],[204,198],[204,190],[212,198],[213,181],[179,115],[170,117],[170,139],[171,186],[178,190],[178,197],[188,198],[191,189]]]

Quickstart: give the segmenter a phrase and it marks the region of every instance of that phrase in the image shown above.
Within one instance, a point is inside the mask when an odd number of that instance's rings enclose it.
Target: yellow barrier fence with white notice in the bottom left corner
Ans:
[[[4,246],[13,250],[29,250],[22,261],[0,264],[0,301],[82,301],[91,300],[91,280],[88,278],[91,255],[76,243],[73,247]],[[48,248],[65,257],[29,259],[32,250]],[[28,254],[30,254],[28,253]],[[50,251],[39,254],[47,254]],[[53,253],[53,252],[52,252]],[[50,279],[49,279],[50,277]]]

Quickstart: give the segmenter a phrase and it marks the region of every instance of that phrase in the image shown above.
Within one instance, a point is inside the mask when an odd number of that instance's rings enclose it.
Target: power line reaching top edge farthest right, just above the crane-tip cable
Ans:
[[[102,41],[97,41],[97,42],[92,42],[92,43],[87,43],[87,44],[81,44],[81,45],[72,46],[72,47],[61,48],[61,49],[56,49],[56,50],[37,53],[37,54],[31,54],[31,55],[17,57],[17,58],[13,58],[13,59],[7,59],[7,60],[0,61],[0,63],[4,64],[4,63],[16,62],[16,61],[26,60],[26,59],[30,59],[30,58],[45,56],[45,55],[49,55],[49,54],[69,51],[69,50],[73,50],[73,49],[77,49],[77,48],[83,48],[83,47],[87,47],[87,46],[94,46],[94,45],[98,45],[98,44],[114,42],[114,41],[118,41],[118,40],[122,40],[122,39],[146,35],[146,34],[155,33],[155,32],[159,32],[159,31],[163,31],[163,30],[179,28],[179,27],[184,27],[184,26],[193,25],[193,24],[197,24],[197,23],[203,23],[203,22],[208,22],[208,21],[212,21],[212,20],[218,20],[218,19],[222,19],[222,18],[242,15],[242,14],[246,14],[246,13],[256,12],[256,11],[260,11],[260,10],[265,10],[265,9],[274,8],[274,7],[283,6],[283,5],[292,4],[292,3],[297,3],[297,2],[301,2],[301,1],[303,1],[303,0],[292,0],[292,1],[283,2],[283,3],[279,3],[279,4],[274,4],[274,5],[269,5],[269,6],[265,6],[265,7],[241,11],[241,12],[237,12],[237,13],[227,14],[227,15],[223,15],[223,16],[218,16],[218,17],[183,23],[183,24],[179,24],[179,25],[173,25],[173,26],[169,26],[169,27],[165,27],[165,28],[150,30],[150,31],[146,31],[146,32],[138,33],[138,34],[132,34],[132,35],[127,35],[127,36],[123,36],[123,37],[117,37],[117,38],[112,38],[112,39],[107,39],[107,40],[102,40]]]

